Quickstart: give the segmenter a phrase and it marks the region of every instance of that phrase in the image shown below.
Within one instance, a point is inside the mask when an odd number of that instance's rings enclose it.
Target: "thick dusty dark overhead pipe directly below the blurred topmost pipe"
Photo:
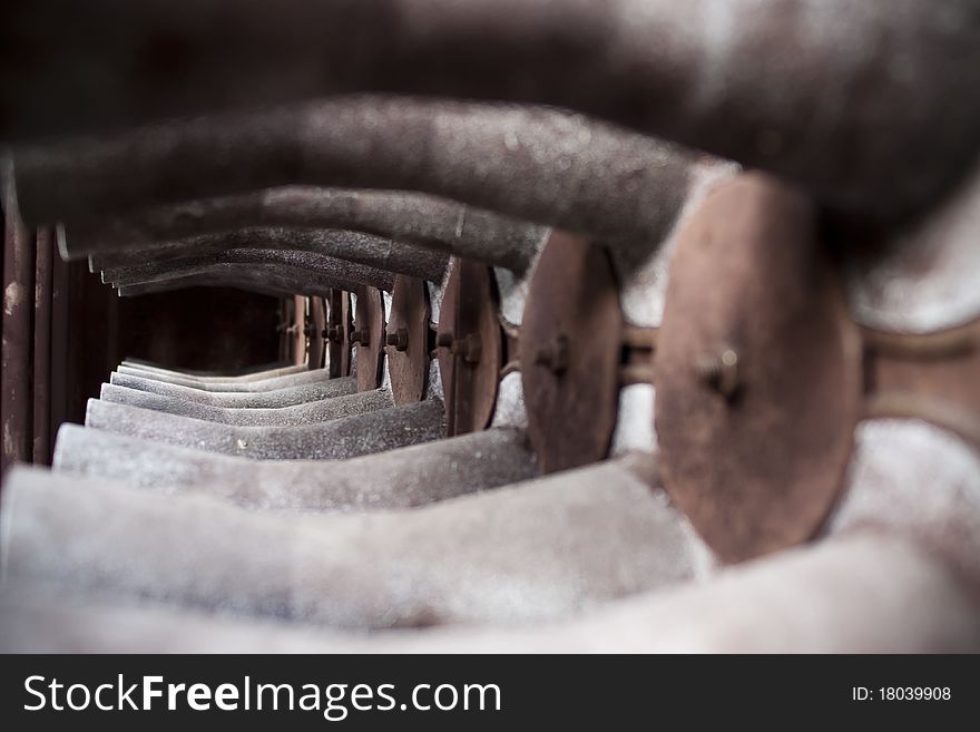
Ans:
[[[689,166],[669,145],[555,109],[386,97],[203,117],[14,159],[26,221],[63,221],[67,236],[79,219],[298,184],[418,191],[634,245],[673,227]]]

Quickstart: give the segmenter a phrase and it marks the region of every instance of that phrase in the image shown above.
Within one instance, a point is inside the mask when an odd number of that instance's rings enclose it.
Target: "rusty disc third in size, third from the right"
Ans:
[[[450,267],[435,338],[447,433],[452,437],[490,423],[503,354],[493,271],[455,257]]]

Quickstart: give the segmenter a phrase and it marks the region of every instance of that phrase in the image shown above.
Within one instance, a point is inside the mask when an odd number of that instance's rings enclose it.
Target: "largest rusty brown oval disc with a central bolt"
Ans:
[[[683,232],[657,342],[665,486],[738,562],[811,538],[843,482],[861,349],[802,195],[762,174],[718,188]]]

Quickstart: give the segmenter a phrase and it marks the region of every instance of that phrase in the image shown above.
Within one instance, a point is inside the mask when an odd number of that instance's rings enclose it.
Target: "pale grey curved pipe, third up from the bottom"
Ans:
[[[206,492],[244,508],[304,513],[411,508],[537,475],[527,436],[512,429],[324,463],[214,455],[78,424],[59,430],[55,470],[136,490]]]

